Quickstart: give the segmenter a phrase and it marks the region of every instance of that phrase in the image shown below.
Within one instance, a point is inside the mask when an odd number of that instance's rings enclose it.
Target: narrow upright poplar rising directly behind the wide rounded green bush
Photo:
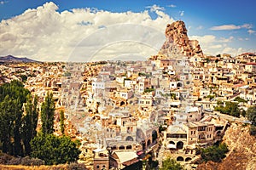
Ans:
[[[53,94],[47,93],[41,106],[42,133],[54,132],[55,101]]]

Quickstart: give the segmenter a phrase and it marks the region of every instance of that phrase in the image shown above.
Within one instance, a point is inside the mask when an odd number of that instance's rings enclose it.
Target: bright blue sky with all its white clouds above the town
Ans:
[[[0,0],[0,56],[146,59],[183,20],[204,54],[256,52],[254,0]]]

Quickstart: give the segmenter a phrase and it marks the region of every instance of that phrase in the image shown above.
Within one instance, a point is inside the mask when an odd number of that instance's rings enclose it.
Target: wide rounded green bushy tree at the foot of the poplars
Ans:
[[[67,136],[41,133],[31,141],[32,157],[45,161],[46,165],[70,163],[79,159],[80,151]]]

